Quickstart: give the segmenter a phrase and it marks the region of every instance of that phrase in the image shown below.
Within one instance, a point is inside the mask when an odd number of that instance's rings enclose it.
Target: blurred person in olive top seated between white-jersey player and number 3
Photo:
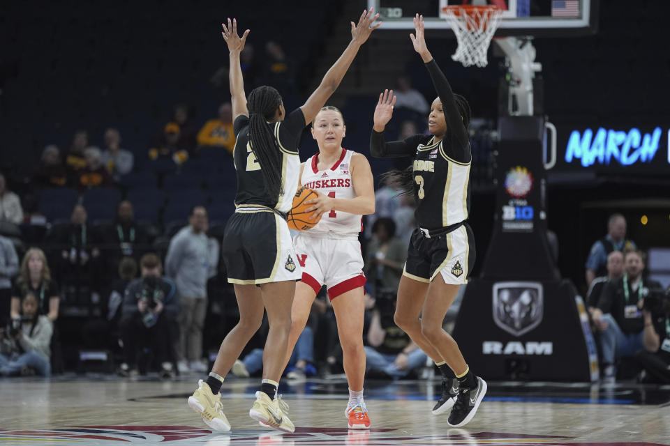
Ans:
[[[373,237],[368,244],[365,261],[365,275],[374,284],[375,295],[395,293],[403,275],[407,259],[407,245],[396,234],[396,224],[392,218],[382,217],[372,226]]]

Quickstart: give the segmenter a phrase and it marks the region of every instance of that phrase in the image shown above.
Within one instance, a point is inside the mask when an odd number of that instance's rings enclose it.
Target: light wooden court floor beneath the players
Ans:
[[[491,397],[449,429],[446,414],[431,415],[437,385],[426,382],[366,384],[371,431],[346,429],[342,381],[283,385],[297,429],[282,434],[248,417],[258,380],[227,380],[232,431],[214,434],[186,405],[195,380],[0,380],[0,445],[670,445],[670,405],[611,403],[626,390],[595,403]]]

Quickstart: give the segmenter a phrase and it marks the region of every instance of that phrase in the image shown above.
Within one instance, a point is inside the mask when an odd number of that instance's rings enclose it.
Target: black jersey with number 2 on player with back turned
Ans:
[[[281,151],[281,164],[275,168],[281,170],[283,193],[278,197],[267,197],[260,164],[251,150],[253,141],[249,139],[249,118],[240,115],[233,124],[236,137],[233,159],[237,171],[235,206],[255,204],[287,213],[291,209],[293,196],[299,183],[298,144],[302,129],[305,127],[305,117],[301,109],[296,109],[286,116],[284,121],[267,123],[267,125],[274,134]]]

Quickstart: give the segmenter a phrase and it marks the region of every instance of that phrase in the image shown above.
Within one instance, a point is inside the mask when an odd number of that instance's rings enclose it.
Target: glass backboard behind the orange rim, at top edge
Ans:
[[[574,37],[595,33],[599,0],[368,0],[384,22],[381,29],[413,29],[415,13],[426,29],[449,29],[442,8],[496,5],[505,10],[496,36]],[[452,34],[453,36],[453,34]]]

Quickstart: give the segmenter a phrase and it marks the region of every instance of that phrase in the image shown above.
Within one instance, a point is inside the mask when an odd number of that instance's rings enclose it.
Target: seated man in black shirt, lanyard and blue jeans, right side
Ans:
[[[593,310],[593,322],[600,330],[604,380],[616,378],[616,360],[632,356],[643,348],[644,320],[639,302],[650,289],[660,289],[658,282],[642,277],[644,254],[632,249],[624,254],[625,272],[621,279],[604,286]]]

